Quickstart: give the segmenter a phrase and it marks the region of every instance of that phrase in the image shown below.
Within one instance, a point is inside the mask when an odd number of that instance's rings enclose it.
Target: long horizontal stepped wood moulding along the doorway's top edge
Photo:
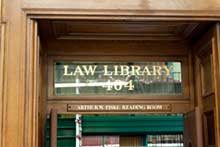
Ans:
[[[31,18],[60,18],[60,19],[75,19],[90,18],[90,19],[102,19],[113,20],[115,18],[125,20],[126,17],[132,20],[220,20],[220,11],[216,10],[115,10],[115,9],[80,9],[80,8],[47,8],[37,5],[24,4],[22,8]],[[73,12],[74,11],[74,12]]]

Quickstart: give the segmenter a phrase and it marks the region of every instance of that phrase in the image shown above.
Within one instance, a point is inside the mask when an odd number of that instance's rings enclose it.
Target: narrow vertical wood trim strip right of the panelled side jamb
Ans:
[[[214,90],[215,90],[215,137],[216,147],[220,147],[220,24],[213,29],[212,52],[214,64]]]

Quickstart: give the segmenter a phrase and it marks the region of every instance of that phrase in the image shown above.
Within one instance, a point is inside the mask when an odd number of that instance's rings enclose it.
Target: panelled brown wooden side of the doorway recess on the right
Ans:
[[[205,147],[220,147],[220,24],[194,46],[195,103],[201,110]]]

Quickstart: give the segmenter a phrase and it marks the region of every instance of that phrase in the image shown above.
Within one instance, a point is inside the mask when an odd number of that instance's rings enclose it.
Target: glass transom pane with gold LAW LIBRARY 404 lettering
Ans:
[[[55,95],[181,95],[181,62],[54,63]]]

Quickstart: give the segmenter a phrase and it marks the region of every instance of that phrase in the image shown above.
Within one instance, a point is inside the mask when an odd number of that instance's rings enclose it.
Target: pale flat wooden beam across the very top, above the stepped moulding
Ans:
[[[182,10],[182,11],[219,11],[220,3],[212,0],[24,0],[24,8],[61,8],[81,10]]]

